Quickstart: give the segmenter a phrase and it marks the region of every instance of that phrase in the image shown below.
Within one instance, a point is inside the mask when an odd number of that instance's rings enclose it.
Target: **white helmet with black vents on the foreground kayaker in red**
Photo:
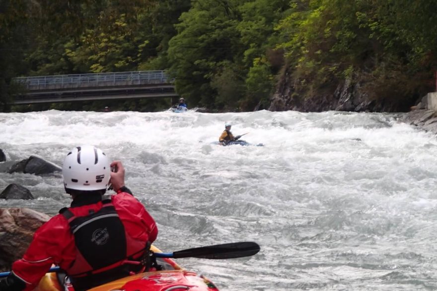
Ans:
[[[64,186],[82,191],[106,189],[111,177],[110,165],[102,150],[90,145],[75,147],[62,165]]]

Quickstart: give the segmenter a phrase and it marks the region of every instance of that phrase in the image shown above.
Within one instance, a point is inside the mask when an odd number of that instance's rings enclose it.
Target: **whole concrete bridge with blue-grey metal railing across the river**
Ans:
[[[15,78],[25,91],[13,104],[177,97],[164,71],[138,71]]]

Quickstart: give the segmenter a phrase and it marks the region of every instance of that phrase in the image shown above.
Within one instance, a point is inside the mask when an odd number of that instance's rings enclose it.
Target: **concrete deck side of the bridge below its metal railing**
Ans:
[[[133,98],[177,97],[174,86],[168,84],[33,90],[15,96],[13,104],[59,103],[74,101],[114,100]]]

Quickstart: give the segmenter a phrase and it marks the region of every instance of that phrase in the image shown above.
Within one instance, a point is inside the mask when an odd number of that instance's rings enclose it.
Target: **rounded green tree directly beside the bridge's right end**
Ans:
[[[217,90],[211,86],[222,73],[223,61],[233,62],[239,50],[236,1],[200,0],[182,13],[178,34],[169,42],[169,71],[178,93],[191,104],[213,107]]]

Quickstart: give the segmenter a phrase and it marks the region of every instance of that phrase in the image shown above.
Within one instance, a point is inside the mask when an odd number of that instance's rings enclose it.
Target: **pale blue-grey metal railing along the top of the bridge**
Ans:
[[[27,89],[77,88],[90,86],[117,86],[126,84],[166,84],[172,83],[164,71],[138,71],[118,73],[55,75],[14,78],[14,82]]]

